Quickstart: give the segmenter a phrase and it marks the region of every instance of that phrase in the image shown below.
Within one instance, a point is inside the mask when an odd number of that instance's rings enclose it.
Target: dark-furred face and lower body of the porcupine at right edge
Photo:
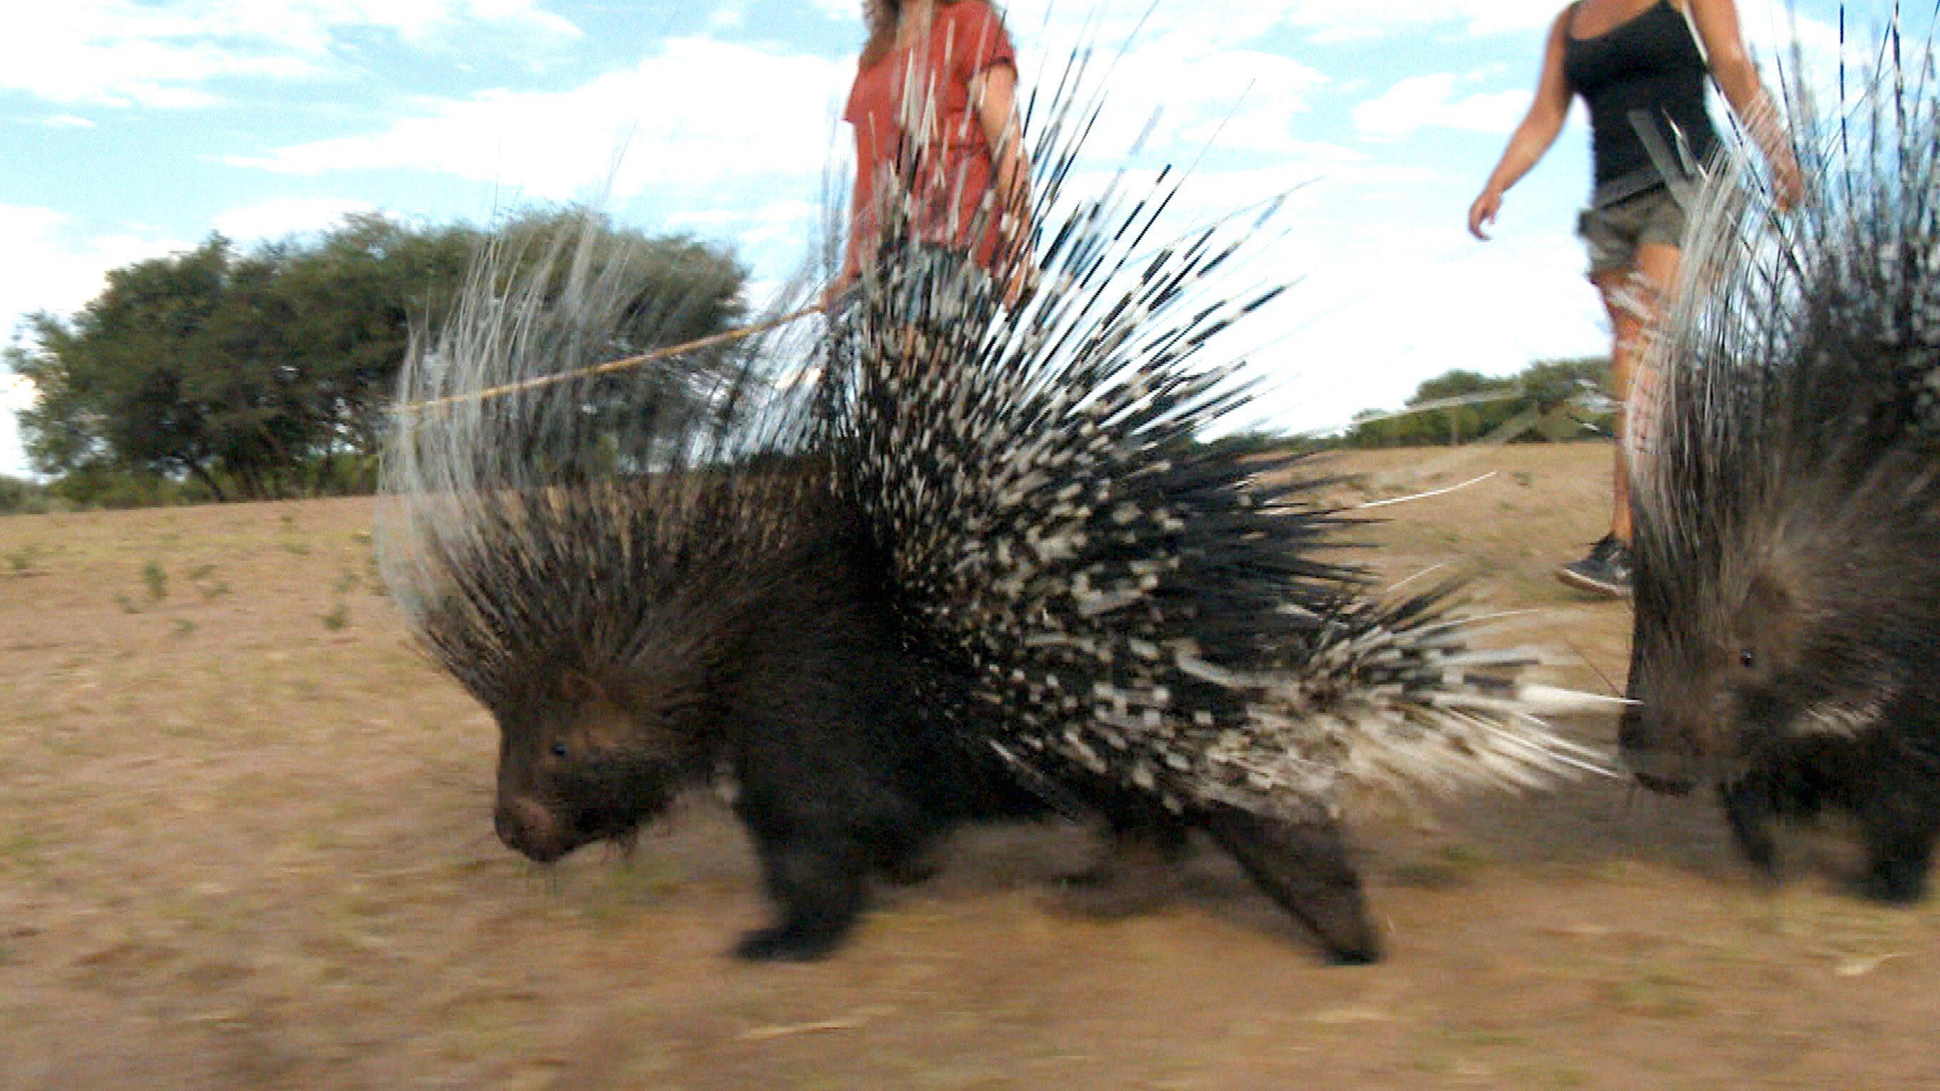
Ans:
[[[1750,575],[1709,588],[1641,551],[1639,705],[1620,742],[1651,788],[1717,782],[1738,846],[1767,872],[1773,819],[1853,813],[1862,887],[1915,901],[1940,835],[1940,522],[1870,507],[1888,495],[1853,497],[1847,518],[1806,505],[1796,518],[1812,530],[1734,534],[1721,553]]]

